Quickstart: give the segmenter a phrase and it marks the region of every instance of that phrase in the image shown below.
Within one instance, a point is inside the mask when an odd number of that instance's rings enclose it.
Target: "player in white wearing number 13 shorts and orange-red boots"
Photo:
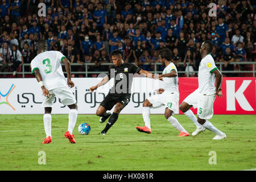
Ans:
[[[159,78],[163,78],[164,88],[157,90],[157,94],[151,96],[143,102],[142,116],[145,126],[137,126],[136,129],[143,133],[151,133],[150,126],[150,108],[165,107],[164,116],[167,121],[172,124],[178,131],[179,137],[188,136],[188,132],[180,125],[179,121],[172,114],[179,113],[179,84],[177,77],[177,69],[175,64],[171,62],[171,51],[168,48],[163,48],[159,52],[160,63],[164,65],[164,71]]]

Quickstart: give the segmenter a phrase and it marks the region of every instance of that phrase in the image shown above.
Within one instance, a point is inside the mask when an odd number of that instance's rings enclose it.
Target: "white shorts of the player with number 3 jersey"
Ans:
[[[65,106],[76,104],[76,98],[68,86],[49,90],[49,94],[50,98],[43,96],[42,107],[52,107],[55,96],[59,97],[60,102]]]

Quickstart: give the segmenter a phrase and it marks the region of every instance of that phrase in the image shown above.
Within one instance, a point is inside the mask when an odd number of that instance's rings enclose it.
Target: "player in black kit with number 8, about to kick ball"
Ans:
[[[114,86],[109,90],[108,95],[101,102],[96,111],[96,115],[101,117],[100,123],[105,122],[111,115],[105,129],[101,131],[102,135],[105,135],[110,127],[114,125],[121,110],[130,102],[133,74],[138,73],[146,77],[154,78],[154,74],[144,71],[134,64],[125,63],[122,59],[122,53],[118,49],[112,51],[110,56],[114,65],[110,67],[108,75],[96,86],[90,88],[90,92],[93,92],[98,87],[105,85],[111,78],[114,78]],[[106,111],[111,110],[114,105],[113,114],[106,113]]]

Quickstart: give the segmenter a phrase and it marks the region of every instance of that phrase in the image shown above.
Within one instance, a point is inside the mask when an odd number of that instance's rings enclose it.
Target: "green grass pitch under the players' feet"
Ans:
[[[191,134],[195,125],[185,115],[175,115]],[[139,133],[142,115],[119,115],[107,135],[106,123],[96,115],[79,115],[74,134],[76,144],[64,138],[68,115],[52,115],[52,143],[45,137],[43,115],[1,115],[0,170],[244,170],[256,168],[255,115],[214,115],[210,121],[227,138],[212,140],[208,130],[197,137],[177,137],[179,132],[164,115],[151,115],[151,134]],[[80,135],[80,123],[89,123],[89,135]],[[46,164],[39,164],[46,154]],[[210,151],[216,164],[209,164]],[[210,159],[210,161],[213,161]]]

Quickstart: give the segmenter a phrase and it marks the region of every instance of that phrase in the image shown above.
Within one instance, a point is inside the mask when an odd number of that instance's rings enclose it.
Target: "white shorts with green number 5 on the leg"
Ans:
[[[193,108],[197,108],[197,116],[200,119],[211,119],[213,116],[213,104],[216,98],[216,94],[201,95],[195,90],[183,102],[192,105]]]

